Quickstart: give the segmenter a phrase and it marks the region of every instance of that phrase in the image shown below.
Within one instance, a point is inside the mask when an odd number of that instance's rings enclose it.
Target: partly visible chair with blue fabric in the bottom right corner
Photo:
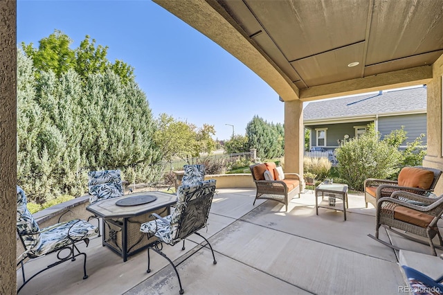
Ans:
[[[408,280],[409,289],[408,291],[399,289],[399,292],[404,291],[404,293],[412,293],[414,295],[418,294],[443,294],[443,276],[434,280],[426,274],[423,274],[417,269],[408,267],[406,265],[401,265],[404,270],[404,274]]]

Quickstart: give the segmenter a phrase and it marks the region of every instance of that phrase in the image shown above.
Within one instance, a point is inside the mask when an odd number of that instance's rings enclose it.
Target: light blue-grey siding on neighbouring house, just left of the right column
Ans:
[[[379,117],[379,132],[381,138],[390,134],[392,130],[401,129],[404,126],[408,137],[401,145],[413,142],[420,134],[425,134],[422,138],[423,145],[426,145],[426,114],[412,114],[390,117]],[[329,129],[328,129],[329,130]]]

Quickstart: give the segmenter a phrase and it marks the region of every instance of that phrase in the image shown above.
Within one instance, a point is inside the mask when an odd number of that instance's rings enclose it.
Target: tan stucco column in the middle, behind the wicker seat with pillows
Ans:
[[[303,175],[303,102],[284,102],[284,171]]]

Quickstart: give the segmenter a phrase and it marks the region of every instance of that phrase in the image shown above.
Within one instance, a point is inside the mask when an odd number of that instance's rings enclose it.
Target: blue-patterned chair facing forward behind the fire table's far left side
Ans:
[[[120,170],[90,171],[88,178],[89,204],[124,195]],[[93,218],[99,220],[98,216],[91,215],[88,221]],[[100,237],[100,222],[98,228],[98,236]]]

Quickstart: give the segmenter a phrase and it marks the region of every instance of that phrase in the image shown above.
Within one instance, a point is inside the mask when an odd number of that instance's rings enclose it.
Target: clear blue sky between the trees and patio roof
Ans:
[[[17,44],[38,42],[54,30],[85,35],[109,46],[108,60],[135,68],[157,118],[166,113],[201,127],[215,138],[245,134],[254,115],[284,122],[278,94],[242,62],[152,1],[17,1]]]

